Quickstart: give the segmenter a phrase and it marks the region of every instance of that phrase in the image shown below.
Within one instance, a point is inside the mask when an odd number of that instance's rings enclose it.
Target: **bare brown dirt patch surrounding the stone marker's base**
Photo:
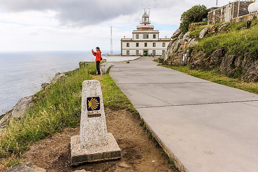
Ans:
[[[71,167],[69,162],[70,137],[79,135],[79,127],[66,129],[61,134],[46,138],[33,145],[24,155],[26,161],[46,169],[48,172],[74,170],[86,171],[174,171],[161,149],[140,126],[137,117],[125,110],[111,111],[105,109],[107,131],[111,132],[122,150],[122,158],[115,161],[88,163]],[[147,164],[147,165],[146,165]]]

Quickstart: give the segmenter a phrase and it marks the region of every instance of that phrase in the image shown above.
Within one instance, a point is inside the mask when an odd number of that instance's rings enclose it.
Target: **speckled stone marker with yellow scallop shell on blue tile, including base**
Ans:
[[[121,149],[107,133],[100,82],[82,83],[80,135],[71,137],[71,165],[121,158]]]

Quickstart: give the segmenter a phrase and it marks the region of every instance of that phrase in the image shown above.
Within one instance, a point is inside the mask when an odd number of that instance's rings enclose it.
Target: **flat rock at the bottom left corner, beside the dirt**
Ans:
[[[5,172],[46,172],[45,169],[32,165],[31,162],[18,164]]]

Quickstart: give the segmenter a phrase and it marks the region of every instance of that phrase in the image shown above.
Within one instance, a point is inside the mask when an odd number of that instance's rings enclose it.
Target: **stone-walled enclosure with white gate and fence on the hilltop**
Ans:
[[[254,2],[255,0],[236,0],[222,7],[212,7],[208,9],[208,24],[237,22],[239,18],[242,18],[241,21],[252,20],[252,18],[256,18],[257,16],[257,9],[250,13],[248,7]]]

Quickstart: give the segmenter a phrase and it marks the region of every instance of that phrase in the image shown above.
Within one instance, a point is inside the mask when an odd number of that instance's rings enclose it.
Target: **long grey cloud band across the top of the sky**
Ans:
[[[151,8],[151,20],[155,23],[178,25],[180,15],[197,4],[212,6],[206,0],[0,0],[0,8],[11,12],[55,11],[59,24],[69,27],[97,25],[121,16],[135,19],[135,14],[142,14],[142,7],[146,6]]]

